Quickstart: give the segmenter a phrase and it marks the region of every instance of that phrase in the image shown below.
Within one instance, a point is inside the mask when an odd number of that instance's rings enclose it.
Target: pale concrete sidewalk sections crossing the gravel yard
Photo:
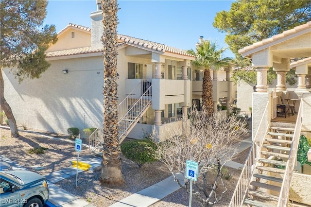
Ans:
[[[74,143],[74,141],[72,142]],[[242,140],[240,143],[234,145],[235,147],[237,147],[236,154],[241,153],[242,151],[249,148],[251,145],[252,145],[251,137]],[[231,153],[233,155],[234,152],[232,151]],[[27,170],[26,168],[18,165],[17,163],[11,161],[10,159],[8,159],[3,155],[0,155],[0,161],[5,161],[9,163],[14,170]],[[70,161],[71,162],[76,161],[76,159]],[[97,157],[94,155],[87,155],[79,158],[79,163],[80,162],[87,163],[90,165],[89,168],[90,171],[95,171],[98,168],[101,168],[101,161],[102,161],[101,157]],[[234,161],[229,161],[225,163],[225,166],[234,169],[241,169],[243,167],[243,164]],[[93,205],[88,204],[86,201],[79,199],[77,196],[72,195],[66,190],[63,190],[54,185],[54,183],[60,180],[75,175],[76,170],[77,170],[76,167],[69,167],[57,172],[52,172],[50,174],[44,175],[44,177],[46,177],[46,179],[48,180],[48,185],[50,189],[49,201],[52,203],[52,205],[48,204],[46,205],[46,207],[94,207]],[[83,172],[83,170],[78,170],[78,173],[81,172]],[[184,183],[184,177],[182,174],[180,173],[177,174],[177,178],[182,184]],[[121,201],[111,205],[111,207],[148,207],[179,189],[180,186],[174,181],[172,175],[156,183],[155,185],[140,190],[137,193],[134,193],[122,199]]]

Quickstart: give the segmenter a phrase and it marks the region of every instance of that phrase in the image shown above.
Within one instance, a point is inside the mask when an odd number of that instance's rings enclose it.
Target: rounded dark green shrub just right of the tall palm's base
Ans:
[[[121,144],[122,154],[135,162],[139,168],[147,162],[156,161],[153,154],[155,149],[156,144],[147,139],[138,139]]]

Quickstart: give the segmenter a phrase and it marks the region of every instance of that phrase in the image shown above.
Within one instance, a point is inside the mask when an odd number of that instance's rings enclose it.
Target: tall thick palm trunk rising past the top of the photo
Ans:
[[[122,185],[121,158],[118,130],[117,95],[117,0],[102,0],[103,46],[104,46],[104,126],[102,173],[99,178],[102,185]]]

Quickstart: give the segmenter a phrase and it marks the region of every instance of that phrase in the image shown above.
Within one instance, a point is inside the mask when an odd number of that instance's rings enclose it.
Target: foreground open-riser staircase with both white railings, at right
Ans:
[[[302,105],[299,107],[295,128],[270,126],[268,105],[229,207],[288,206],[301,133]]]

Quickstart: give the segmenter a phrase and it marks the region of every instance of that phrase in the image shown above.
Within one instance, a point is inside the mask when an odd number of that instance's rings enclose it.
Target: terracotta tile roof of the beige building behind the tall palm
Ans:
[[[74,27],[78,28],[81,30],[85,30],[87,32],[91,32],[91,28],[89,27],[84,27],[81,25],[77,24],[72,24],[69,23],[64,29],[62,29],[58,35],[64,33],[67,29]],[[135,37],[127,36],[127,35],[119,35],[118,34],[118,39],[121,41],[117,45],[117,47],[123,45],[123,44],[128,44],[128,45],[137,45],[142,48],[158,51],[158,52],[170,52],[174,54],[180,54],[180,55],[185,55],[189,57],[194,57],[194,55],[191,55],[187,53],[185,50],[177,49],[168,45],[148,41],[148,40],[143,40],[143,39],[138,39]],[[124,43],[122,43],[124,42]],[[74,55],[74,54],[86,54],[86,53],[94,53],[94,52],[103,52],[103,50],[91,50],[91,47],[85,47],[85,48],[76,48],[76,49],[69,49],[69,50],[62,50],[62,51],[54,51],[54,52],[47,52],[47,57],[58,57],[58,56],[66,56],[66,55]]]

